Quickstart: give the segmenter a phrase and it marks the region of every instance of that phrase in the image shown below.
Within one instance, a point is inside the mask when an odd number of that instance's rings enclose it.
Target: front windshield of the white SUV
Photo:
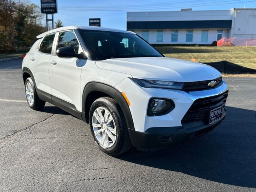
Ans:
[[[136,34],[82,30],[96,60],[128,57],[162,57]]]

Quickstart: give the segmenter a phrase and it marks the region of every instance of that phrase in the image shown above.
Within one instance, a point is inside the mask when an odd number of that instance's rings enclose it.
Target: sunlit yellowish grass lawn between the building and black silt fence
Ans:
[[[251,47],[156,47],[166,57],[197,62],[229,62],[256,69],[256,46]]]

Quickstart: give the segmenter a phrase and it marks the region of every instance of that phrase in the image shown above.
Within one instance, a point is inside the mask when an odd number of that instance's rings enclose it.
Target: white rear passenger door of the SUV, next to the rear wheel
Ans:
[[[37,89],[48,94],[51,93],[49,78],[49,60],[52,56],[52,48],[55,34],[44,36],[40,46],[30,54],[28,68],[32,71]]]

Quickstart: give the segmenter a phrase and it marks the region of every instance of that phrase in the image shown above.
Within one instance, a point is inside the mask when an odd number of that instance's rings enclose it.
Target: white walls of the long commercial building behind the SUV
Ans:
[[[162,29],[164,31],[163,42],[156,42],[157,30],[145,30],[149,31],[149,42],[152,44],[212,44],[213,41],[217,40],[218,30],[223,30],[222,37],[256,38],[255,8],[213,11],[127,12],[127,21],[183,20],[232,20],[232,27],[230,29],[187,29],[193,30],[193,42],[186,42],[186,29],[178,29],[178,42],[171,42],[172,29]],[[208,30],[208,42],[201,42],[202,30]],[[134,32],[142,36],[142,30],[134,30]]]

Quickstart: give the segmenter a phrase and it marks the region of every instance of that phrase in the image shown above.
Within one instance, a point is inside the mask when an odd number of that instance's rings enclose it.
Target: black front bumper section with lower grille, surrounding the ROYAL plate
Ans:
[[[212,131],[226,117],[226,100],[228,90],[222,94],[194,101],[184,117],[182,126],[152,127],[146,132],[129,130],[133,146],[137,148],[162,148],[171,143],[192,140]],[[209,124],[211,110],[223,106],[222,118]]]

